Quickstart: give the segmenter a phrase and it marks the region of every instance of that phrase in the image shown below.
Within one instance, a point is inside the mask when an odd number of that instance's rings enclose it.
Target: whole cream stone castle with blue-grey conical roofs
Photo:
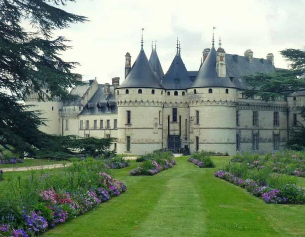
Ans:
[[[243,76],[273,73],[273,54],[254,58],[227,54],[219,44],[203,50],[199,71],[187,71],[177,44],[176,54],[164,74],[156,48],[149,60],[143,49],[131,66],[126,54],[125,80],[112,85],[83,81],[71,90],[71,101],[25,101],[47,118],[41,130],[57,135],[117,138],[111,149],[118,154],[145,154],[167,148],[174,152],[201,150],[268,153],[281,149],[296,125],[304,97],[265,102],[247,98]],[[48,93],[47,88],[45,92]]]

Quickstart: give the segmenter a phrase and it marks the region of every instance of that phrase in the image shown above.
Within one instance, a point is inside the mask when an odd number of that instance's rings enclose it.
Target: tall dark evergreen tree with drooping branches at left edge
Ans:
[[[75,1],[0,0],[0,145],[8,149],[31,153],[43,145],[45,134],[38,129],[43,121],[20,104],[29,93],[41,100],[66,99],[67,89],[80,83],[80,75],[71,72],[77,62],[60,58],[70,48],[67,40],[53,36],[56,29],[87,20],[59,8],[69,2]]]

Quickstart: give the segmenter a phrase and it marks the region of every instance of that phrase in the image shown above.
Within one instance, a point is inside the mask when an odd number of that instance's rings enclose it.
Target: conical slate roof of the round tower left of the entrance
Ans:
[[[136,61],[131,67],[131,71],[125,81],[118,88],[162,88],[159,78],[153,72],[146,57],[141,49]]]

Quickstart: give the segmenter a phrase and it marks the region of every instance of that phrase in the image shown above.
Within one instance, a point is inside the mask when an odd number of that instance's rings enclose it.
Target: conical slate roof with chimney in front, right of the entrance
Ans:
[[[216,50],[214,46],[209,51],[206,59],[204,60],[197,77],[189,88],[198,87],[232,87],[236,86],[227,77],[219,78],[216,72]]]

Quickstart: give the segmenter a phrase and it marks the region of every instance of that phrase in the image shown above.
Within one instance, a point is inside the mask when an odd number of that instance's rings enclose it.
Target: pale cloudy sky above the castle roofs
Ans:
[[[124,80],[125,54],[131,54],[133,64],[142,28],[146,56],[157,41],[164,73],[175,56],[177,37],[187,70],[198,70],[203,49],[211,47],[213,26],[227,53],[243,55],[251,49],[257,58],[273,53],[275,66],[287,68],[279,51],[304,48],[304,6],[305,0],[79,0],[63,9],[89,21],[57,30],[54,36],[71,40],[73,48],[62,57],[81,64],[74,72],[99,83]]]

